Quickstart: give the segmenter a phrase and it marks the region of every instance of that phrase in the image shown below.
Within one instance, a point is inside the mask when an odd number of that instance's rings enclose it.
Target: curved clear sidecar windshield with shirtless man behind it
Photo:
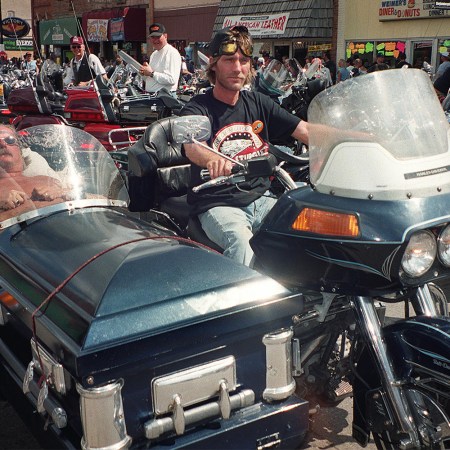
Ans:
[[[0,229],[59,210],[128,205],[113,159],[90,134],[41,125],[15,143],[0,138]]]

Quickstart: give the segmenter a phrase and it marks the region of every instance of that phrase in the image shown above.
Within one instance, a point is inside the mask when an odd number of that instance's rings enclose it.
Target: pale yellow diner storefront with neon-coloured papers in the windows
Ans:
[[[358,54],[363,61],[371,63],[382,53],[393,67],[399,54],[405,53],[413,67],[422,67],[426,62],[435,71],[439,52],[450,48],[450,10],[436,8],[435,0],[347,0],[345,3],[347,58]]]

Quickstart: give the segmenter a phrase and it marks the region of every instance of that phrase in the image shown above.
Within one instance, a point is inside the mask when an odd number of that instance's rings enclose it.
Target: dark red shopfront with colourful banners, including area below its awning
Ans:
[[[105,59],[113,59],[118,50],[124,50],[140,60],[146,53],[145,8],[111,8],[83,14],[82,28],[90,50]]]

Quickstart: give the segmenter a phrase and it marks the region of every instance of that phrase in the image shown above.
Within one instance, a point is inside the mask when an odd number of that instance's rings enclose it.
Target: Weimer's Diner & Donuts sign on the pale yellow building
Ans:
[[[443,17],[450,17],[450,9],[436,8],[436,0],[382,0],[378,9],[381,22]]]

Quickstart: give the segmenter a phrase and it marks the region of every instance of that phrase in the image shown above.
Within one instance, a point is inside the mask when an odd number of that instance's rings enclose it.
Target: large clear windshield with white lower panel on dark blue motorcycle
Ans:
[[[319,192],[404,199],[448,191],[449,124],[427,74],[362,75],[308,109],[311,182]]]

